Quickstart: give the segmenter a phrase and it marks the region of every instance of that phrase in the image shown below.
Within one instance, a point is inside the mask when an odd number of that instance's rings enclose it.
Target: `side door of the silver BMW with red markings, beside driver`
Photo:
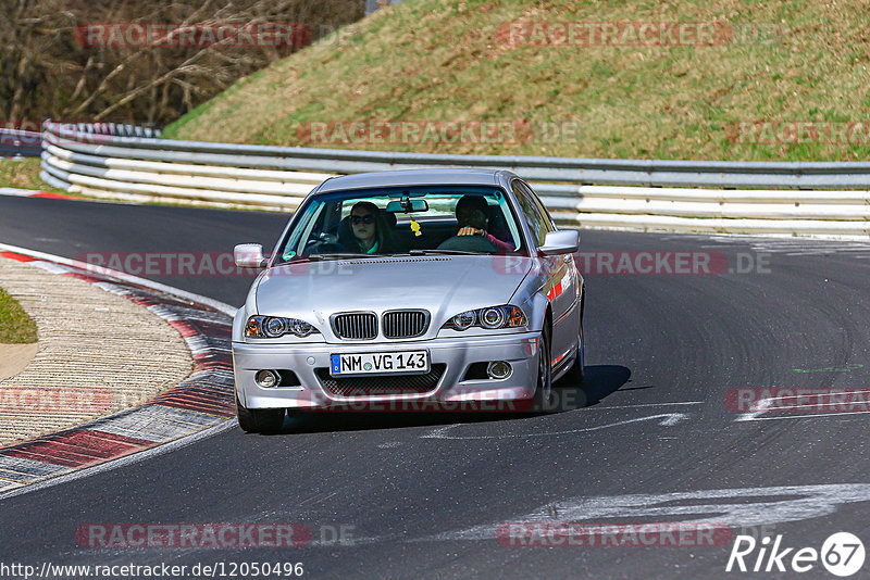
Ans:
[[[557,227],[544,204],[521,179],[514,179],[513,191],[520,210],[529,226],[537,247],[544,244],[544,238]],[[552,312],[552,364],[570,357],[577,344],[580,329],[580,289],[579,275],[571,254],[544,256],[539,259],[546,277],[543,289],[550,301]]]

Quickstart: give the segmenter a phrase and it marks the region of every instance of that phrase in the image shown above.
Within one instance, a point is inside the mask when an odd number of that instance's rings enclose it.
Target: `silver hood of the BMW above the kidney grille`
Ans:
[[[532,263],[522,256],[473,255],[287,264],[263,274],[257,311],[322,328],[337,312],[425,308],[432,326],[439,327],[460,312],[508,303]]]

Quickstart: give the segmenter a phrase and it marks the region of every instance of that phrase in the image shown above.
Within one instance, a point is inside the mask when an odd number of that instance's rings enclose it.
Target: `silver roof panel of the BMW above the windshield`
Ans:
[[[504,169],[402,169],[360,173],[333,177],[324,181],[318,193],[343,189],[402,186],[493,186],[507,182],[513,174]]]

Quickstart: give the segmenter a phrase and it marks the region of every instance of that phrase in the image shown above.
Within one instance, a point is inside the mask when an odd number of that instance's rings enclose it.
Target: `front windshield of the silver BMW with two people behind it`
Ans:
[[[523,250],[501,189],[402,187],[315,196],[299,209],[277,261]]]

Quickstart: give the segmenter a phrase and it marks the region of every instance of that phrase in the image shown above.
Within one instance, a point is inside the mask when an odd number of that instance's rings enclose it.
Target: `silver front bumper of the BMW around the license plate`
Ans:
[[[433,339],[414,342],[374,343],[307,343],[263,344],[233,343],[233,369],[236,392],[247,408],[328,409],[331,407],[359,411],[425,409],[420,403],[444,408],[462,407],[480,411],[511,411],[512,401],[530,401],[537,379],[539,332],[502,336]],[[343,395],[324,381],[332,354],[401,352],[427,350],[434,369],[443,365],[437,381],[424,392],[362,394],[355,391]],[[465,375],[473,363],[507,361],[512,367],[505,379],[469,379]],[[254,381],[262,369],[289,369],[299,386],[263,388]],[[401,379],[399,378],[401,377]],[[410,384],[414,376],[389,376],[391,384]],[[347,380],[347,379],[345,379]],[[371,380],[371,379],[370,379]],[[386,381],[385,381],[386,382]]]

